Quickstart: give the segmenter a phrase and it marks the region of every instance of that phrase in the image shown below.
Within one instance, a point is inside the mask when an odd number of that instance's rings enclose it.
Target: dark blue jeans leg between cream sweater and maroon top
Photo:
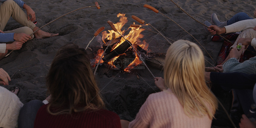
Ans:
[[[18,128],[33,128],[38,109],[44,105],[40,100],[32,100],[23,105],[18,117]]]

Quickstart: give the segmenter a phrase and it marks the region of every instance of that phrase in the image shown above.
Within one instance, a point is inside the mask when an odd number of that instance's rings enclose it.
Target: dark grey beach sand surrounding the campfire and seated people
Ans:
[[[35,11],[38,21],[36,26],[38,27],[72,10],[95,5],[95,1],[91,0],[24,1]],[[239,12],[245,12],[253,17],[255,5],[255,0],[176,0],[174,2],[202,23],[206,20],[212,23],[212,13],[216,13],[220,21],[226,21]],[[139,24],[131,18],[132,15],[135,15],[146,21],[146,23],[152,24],[152,26],[163,33],[163,35],[172,40],[184,39],[195,42],[196,44],[198,44],[196,42],[196,40],[198,40],[210,53],[214,61],[217,60],[222,42],[210,41],[211,35],[205,31],[203,25],[183,13],[171,1],[99,0],[98,3],[101,5],[100,10],[96,7],[78,10],[54,21],[42,29],[46,32],[59,33],[59,36],[29,40],[20,50],[13,51],[8,57],[0,60],[0,67],[7,71],[11,77],[9,85],[4,87],[9,90],[19,87],[20,92],[18,93],[18,97],[23,103],[33,99],[43,101],[46,98],[47,92],[45,77],[48,74],[51,61],[57,50],[68,43],[75,43],[85,48],[88,42],[93,38],[93,34],[97,29],[104,26],[105,29],[103,31],[111,30],[107,21],[110,20],[113,23],[118,22],[118,13],[125,14],[128,20],[127,24],[125,24],[122,29],[128,29],[129,25],[133,24],[133,22]],[[149,4],[170,17],[193,35],[196,40],[168,18],[143,7],[144,4]],[[21,25],[11,18],[4,30],[6,31],[18,27],[21,27]],[[146,27],[150,28],[149,26]],[[141,40],[145,40],[149,44],[148,52],[166,53],[169,45],[163,37],[146,30],[141,34],[144,35]],[[102,47],[103,42],[101,38],[102,34],[100,33],[90,43],[89,47],[92,49],[93,53],[96,53],[96,51]],[[200,48],[204,52],[205,59],[215,65],[206,51],[203,50],[202,46],[200,46]],[[207,62],[205,64],[206,66],[211,66]],[[150,66],[149,69],[155,77],[163,77],[163,71]],[[139,79],[135,73],[138,74]],[[107,77],[106,75],[99,77],[96,73],[96,80],[101,89],[102,98],[107,109],[117,113],[121,119],[127,119],[129,121],[135,118],[148,95],[159,91],[154,85],[152,75],[146,68],[134,70],[133,72],[114,71],[112,77]],[[228,93],[216,93],[216,96],[228,110],[230,98]],[[227,120],[227,116],[224,115],[221,107],[219,107],[217,111],[216,118],[221,118],[224,121]],[[218,126],[212,125],[212,127]]]

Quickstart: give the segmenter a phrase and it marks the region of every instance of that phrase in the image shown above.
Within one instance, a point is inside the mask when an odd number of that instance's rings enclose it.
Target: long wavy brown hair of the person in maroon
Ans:
[[[104,108],[88,55],[75,44],[57,51],[46,85],[51,94],[47,110],[52,115]]]

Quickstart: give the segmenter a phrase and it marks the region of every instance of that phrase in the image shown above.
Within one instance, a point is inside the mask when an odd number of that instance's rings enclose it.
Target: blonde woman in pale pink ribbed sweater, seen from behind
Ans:
[[[210,128],[218,102],[205,83],[202,50],[188,40],[174,42],[166,53],[161,92],[150,94],[136,118],[121,120],[130,128]]]

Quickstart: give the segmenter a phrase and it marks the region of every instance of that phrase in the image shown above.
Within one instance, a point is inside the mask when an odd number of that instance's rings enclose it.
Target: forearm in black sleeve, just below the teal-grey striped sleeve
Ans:
[[[239,72],[220,73],[211,72],[210,79],[214,84],[234,89],[252,89],[256,83],[256,74]]]

